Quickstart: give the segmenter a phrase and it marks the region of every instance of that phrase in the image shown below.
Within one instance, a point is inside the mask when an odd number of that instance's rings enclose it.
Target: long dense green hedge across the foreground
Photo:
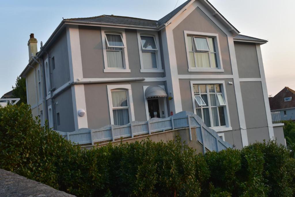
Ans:
[[[81,149],[31,117],[0,108],[0,168],[76,196],[294,196],[295,161],[275,141],[195,154],[176,141]]]

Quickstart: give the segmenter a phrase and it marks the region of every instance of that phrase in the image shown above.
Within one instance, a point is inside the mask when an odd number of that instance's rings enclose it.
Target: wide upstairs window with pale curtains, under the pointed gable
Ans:
[[[187,36],[187,41],[191,68],[218,68],[214,38]]]

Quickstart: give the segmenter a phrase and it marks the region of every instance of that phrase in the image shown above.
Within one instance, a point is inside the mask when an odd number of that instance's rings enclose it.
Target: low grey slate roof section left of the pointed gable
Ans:
[[[115,16],[115,15],[101,15],[97,17],[72,18],[72,19],[64,19],[64,20],[157,27],[157,21],[155,20],[123,17],[123,16]]]

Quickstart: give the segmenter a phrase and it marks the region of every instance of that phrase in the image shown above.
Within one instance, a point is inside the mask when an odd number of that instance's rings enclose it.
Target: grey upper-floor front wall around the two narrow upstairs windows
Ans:
[[[140,73],[137,31],[132,29],[125,29],[125,34],[129,69],[131,70],[131,73],[104,73],[104,57],[100,27],[79,26],[83,78],[164,76],[164,73]]]

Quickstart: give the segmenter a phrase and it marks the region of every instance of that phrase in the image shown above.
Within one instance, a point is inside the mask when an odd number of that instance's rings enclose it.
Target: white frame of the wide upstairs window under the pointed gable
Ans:
[[[218,34],[215,33],[205,33],[205,32],[194,32],[194,31],[183,31],[184,32],[184,40],[185,40],[185,46],[186,46],[186,56],[187,56],[187,65],[188,65],[188,71],[189,72],[224,72],[223,66],[222,66],[222,58],[221,58],[221,51],[220,51],[220,44],[219,44],[219,38]],[[207,44],[209,45],[208,38],[214,39],[214,45],[216,50],[216,59],[217,59],[217,68],[193,68],[190,67],[190,57],[189,57],[189,41],[187,39],[187,36],[193,36],[193,37],[199,37],[199,38],[207,38]],[[193,38],[194,40],[194,38]],[[195,44],[195,41],[194,41]],[[196,47],[196,46],[195,46]],[[204,51],[204,50],[202,50]],[[209,51],[209,55],[210,55]],[[213,53],[213,52],[212,52]],[[209,56],[209,62],[211,61],[211,56]]]

